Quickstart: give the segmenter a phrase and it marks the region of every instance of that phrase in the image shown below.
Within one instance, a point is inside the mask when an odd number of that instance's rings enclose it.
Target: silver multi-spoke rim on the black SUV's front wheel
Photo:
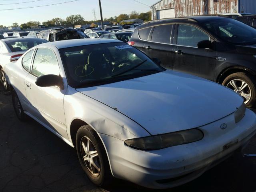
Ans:
[[[252,91],[248,83],[241,79],[234,79],[228,82],[227,87],[234,90],[244,98],[244,103],[248,103],[252,97]]]

